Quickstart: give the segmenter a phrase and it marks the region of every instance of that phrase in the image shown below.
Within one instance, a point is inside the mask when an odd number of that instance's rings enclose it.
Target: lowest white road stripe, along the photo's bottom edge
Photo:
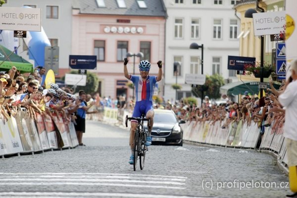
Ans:
[[[75,192],[0,192],[0,197],[12,198],[73,198],[73,197],[125,197],[125,198],[201,198],[192,196],[154,195],[154,194],[132,194],[132,193],[75,193]],[[68,197],[66,197],[68,196]]]

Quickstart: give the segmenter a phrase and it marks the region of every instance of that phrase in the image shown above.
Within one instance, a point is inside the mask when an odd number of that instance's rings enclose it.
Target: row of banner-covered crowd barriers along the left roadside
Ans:
[[[0,122],[0,156],[34,153],[49,149],[74,148],[78,140],[72,122],[67,123],[61,115],[36,113],[29,117],[27,111]]]

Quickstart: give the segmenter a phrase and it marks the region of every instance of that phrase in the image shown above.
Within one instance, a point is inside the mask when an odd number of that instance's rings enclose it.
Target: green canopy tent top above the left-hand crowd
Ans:
[[[21,73],[31,73],[34,71],[33,64],[21,56],[12,53],[9,49],[0,46],[0,71],[8,71],[12,66],[15,66]]]

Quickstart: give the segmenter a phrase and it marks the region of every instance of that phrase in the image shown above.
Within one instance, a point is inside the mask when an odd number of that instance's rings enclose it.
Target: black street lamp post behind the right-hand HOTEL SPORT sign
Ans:
[[[256,1],[256,9],[260,12],[265,12],[262,7],[259,7],[259,0]],[[257,13],[255,9],[249,8],[245,12],[246,18],[252,18],[252,14]],[[263,73],[264,73],[264,36],[261,35],[261,60],[260,60],[260,82],[263,83]],[[260,98],[263,97],[263,89],[260,89]]]

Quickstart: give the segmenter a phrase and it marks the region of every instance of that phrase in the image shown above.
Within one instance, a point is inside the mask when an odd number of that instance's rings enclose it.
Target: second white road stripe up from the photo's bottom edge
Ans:
[[[78,185],[78,186],[117,186],[117,187],[138,187],[138,188],[157,188],[157,189],[179,189],[185,190],[185,187],[174,186],[149,186],[136,184],[109,184],[109,183],[82,183],[82,182],[0,182],[0,185],[9,186],[49,186],[49,185]]]

